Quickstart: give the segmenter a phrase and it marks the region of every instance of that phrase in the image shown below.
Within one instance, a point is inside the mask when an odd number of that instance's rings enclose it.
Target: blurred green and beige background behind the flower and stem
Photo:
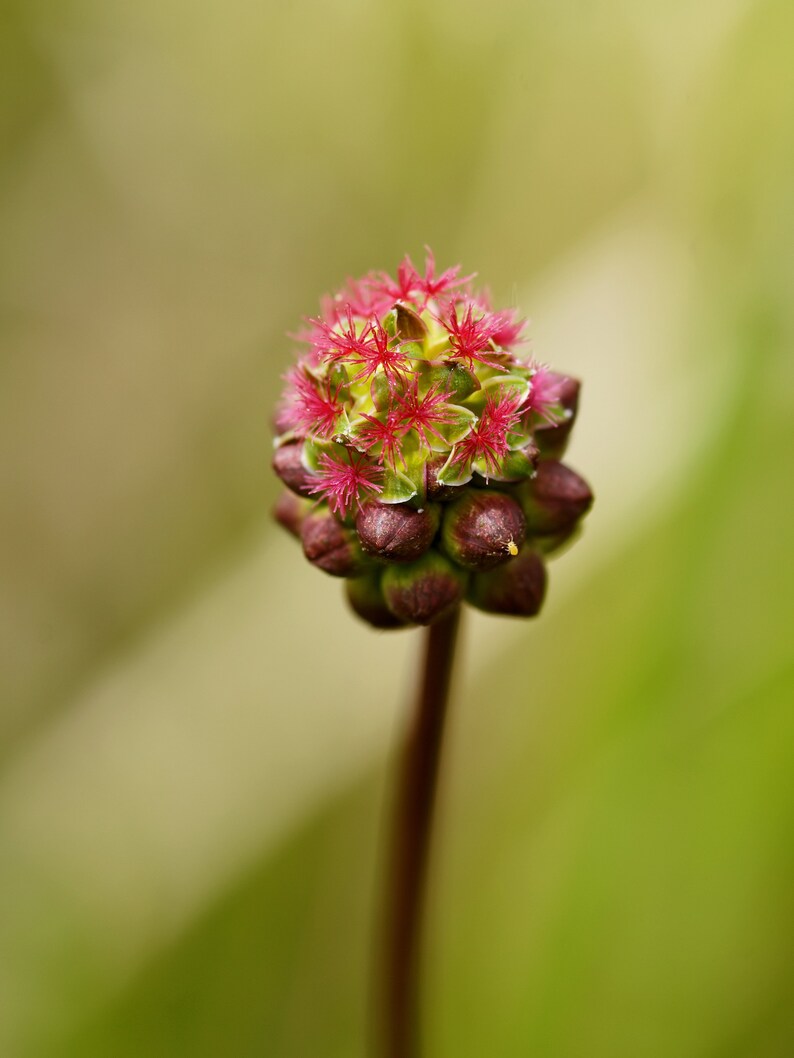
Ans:
[[[363,1058],[413,634],[270,525],[285,336],[429,243],[584,379],[470,615],[433,1058],[794,1054],[791,0],[3,0],[0,1054]]]

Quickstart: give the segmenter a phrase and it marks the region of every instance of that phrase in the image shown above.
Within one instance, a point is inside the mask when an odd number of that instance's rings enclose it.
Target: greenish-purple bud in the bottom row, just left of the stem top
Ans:
[[[433,550],[410,565],[389,566],[381,584],[395,617],[411,624],[432,624],[461,602],[467,579]]]

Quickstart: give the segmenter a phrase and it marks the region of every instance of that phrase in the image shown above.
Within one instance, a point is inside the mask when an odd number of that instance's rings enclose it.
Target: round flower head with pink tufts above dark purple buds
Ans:
[[[421,271],[405,257],[396,277],[348,279],[285,377],[273,467],[302,498],[276,517],[376,627],[465,599],[534,616],[545,559],[592,504],[559,461],[579,383],[526,355],[525,322],[472,279],[430,251]]]

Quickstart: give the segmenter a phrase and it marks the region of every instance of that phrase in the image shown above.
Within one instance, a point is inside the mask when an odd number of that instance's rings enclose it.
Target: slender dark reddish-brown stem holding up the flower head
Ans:
[[[386,907],[385,1058],[418,1054],[418,970],[428,853],[459,607],[432,624],[397,789]]]

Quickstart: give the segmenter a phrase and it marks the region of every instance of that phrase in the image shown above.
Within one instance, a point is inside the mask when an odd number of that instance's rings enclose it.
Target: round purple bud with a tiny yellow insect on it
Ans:
[[[467,569],[492,569],[509,562],[524,543],[520,505],[503,492],[466,492],[450,504],[441,522],[444,549]]]

